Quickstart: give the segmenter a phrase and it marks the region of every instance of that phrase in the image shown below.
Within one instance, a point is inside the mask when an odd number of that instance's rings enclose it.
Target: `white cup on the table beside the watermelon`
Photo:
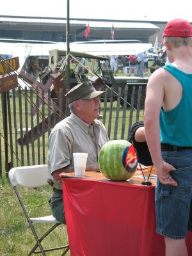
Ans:
[[[73,153],[74,156],[74,169],[76,176],[84,176],[86,169],[87,153]]]

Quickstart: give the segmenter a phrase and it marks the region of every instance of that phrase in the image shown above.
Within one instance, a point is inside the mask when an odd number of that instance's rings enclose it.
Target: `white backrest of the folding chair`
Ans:
[[[12,168],[9,172],[12,186],[37,188],[47,185],[47,164],[21,166]]]

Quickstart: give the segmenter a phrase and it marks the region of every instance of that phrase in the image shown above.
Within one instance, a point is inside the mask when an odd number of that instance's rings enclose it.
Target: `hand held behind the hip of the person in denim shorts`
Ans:
[[[159,181],[164,185],[172,185],[177,187],[177,181],[172,178],[170,175],[171,171],[174,171],[175,168],[166,162],[163,162],[162,165],[155,166],[156,168],[156,174]]]

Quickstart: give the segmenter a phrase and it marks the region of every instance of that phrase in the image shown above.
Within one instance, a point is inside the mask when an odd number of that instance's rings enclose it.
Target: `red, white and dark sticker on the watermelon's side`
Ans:
[[[133,172],[136,170],[138,165],[138,157],[136,151],[134,150],[134,146],[131,145],[128,148],[127,154],[125,156],[125,169],[127,172]]]

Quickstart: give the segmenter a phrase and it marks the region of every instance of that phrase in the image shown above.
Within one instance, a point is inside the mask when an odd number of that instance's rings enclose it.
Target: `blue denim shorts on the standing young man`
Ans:
[[[166,163],[176,170],[170,172],[178,186],[156,186],[156,232],[173,239],[183,239],[192,231],[192,149],[162,152]],[[191,209],[191,211],[190,211]]]

